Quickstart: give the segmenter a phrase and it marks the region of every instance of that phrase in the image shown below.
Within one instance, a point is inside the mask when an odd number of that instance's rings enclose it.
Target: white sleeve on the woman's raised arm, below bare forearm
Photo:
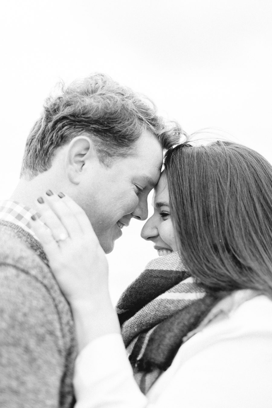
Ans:
[[[121,335],[109,334],[78,355],[74,376],[75,408],[144,408],[147,399],[133,378]]]

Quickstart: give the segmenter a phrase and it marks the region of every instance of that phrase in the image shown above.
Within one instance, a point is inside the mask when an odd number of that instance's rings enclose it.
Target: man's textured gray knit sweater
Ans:
[[[72,407],[76,353],[71,309],[42,246],[0,221],[0,407]]]

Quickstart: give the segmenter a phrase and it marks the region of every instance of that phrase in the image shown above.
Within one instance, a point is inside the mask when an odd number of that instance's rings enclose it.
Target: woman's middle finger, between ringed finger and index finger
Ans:
[[[61,199],[62,196],[64,196],[64,194],[60,193],[60,196],[58,196],[57,194],[52,193],[51,190],[48,190],[46,191],[44,199],[66,231],[68,231],[71,238],[77,235],[82,235],[83,231],[77,217],[73,211],[71,211],[69,206],[66,205],[66,201]]]

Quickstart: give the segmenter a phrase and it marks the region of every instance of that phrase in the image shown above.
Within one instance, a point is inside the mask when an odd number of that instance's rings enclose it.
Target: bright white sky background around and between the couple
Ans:
[[[271,21],[271,0],[1,2],[0,199],[53,86],[95,71],[148,95],[188,133],[223,129],[272,162]],[[108,255],[114,301],[157,255],[142,225],[131,222]]]

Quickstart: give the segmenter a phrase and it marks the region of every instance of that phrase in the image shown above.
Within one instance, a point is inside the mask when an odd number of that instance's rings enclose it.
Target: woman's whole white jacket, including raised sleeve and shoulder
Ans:
[[[272,300],[259,295],[210,322],[146,396],[117,334],[82,350],[74,386],[76,408],[271,408]]]

